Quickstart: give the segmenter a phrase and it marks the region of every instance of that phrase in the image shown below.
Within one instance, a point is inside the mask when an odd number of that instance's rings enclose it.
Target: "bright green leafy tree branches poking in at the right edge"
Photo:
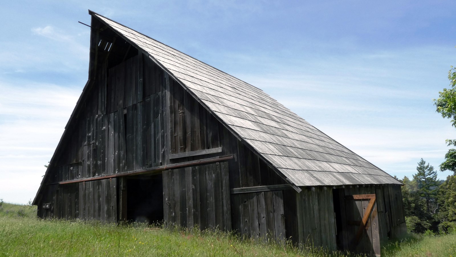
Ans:
[[[451,125],[456,128],[456,68],[451,66],[448,71],[450,89],[444,88],[439,92],[439,98],[433,99],[436,111],[443,118],[451,118]],[[448,146],[456,146],[456,139],[446,139]],[[456,175],[456,150],[450,149],[445,155],[445,161],[440,164],[440,171],[453,171]]]

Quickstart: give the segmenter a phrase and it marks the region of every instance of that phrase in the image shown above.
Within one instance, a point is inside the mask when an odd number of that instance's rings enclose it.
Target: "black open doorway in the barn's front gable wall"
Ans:
[[[161,224],[163,222],[163,179],[161,174],[135,176],[127,180],[127,220]]]

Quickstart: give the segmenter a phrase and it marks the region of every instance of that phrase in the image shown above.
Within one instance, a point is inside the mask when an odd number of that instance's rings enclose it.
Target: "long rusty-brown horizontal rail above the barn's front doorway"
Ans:
[[[192,167],[192,166],[198,166],[198,165],[220,162],[220,161],[228,161],[230,159],[233,159],[233,157],[234,157],[233,155],[224,155],[224,156],[206,158],[206,159],[195,160],[195,161],[186,161],[186,162],[181,162],[181,163],[169,164],[169,165],[152,167],[152,168],[135,170],[135,171],[120,172],[120,173],[110,174],[110,175],[102,175],[102,176],[97,176],[97,177],[87,177],[87,178],[61,181],[58,183],[62,185],[62,184],[69,184],[69,183],[79,183],[79,182],[86,182],[86,181],[102,180],[102,179],[108,179],[108,178],[113,178],[113,177],[133,176],[133,175],[140,175],[140,174],[145,174],[145,173],[158,173],[161,171],[172,170],[172,169],[177,169],[177,168]]]

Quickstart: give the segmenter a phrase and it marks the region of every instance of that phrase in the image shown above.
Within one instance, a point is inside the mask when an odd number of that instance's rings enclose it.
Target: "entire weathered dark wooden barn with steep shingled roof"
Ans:
[[[88,81],[38,217],[164,222],[379,254],[401,183],[260,89],[89,11]]]

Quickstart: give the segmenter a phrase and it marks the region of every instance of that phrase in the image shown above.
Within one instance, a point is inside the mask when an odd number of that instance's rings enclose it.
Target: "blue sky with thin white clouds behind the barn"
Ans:
[[[0,198],[35,196],[88,76],[88,9],[266,91],[398,177],[455,138],[432,98],[456,65],[456,2],[2,1]],[[444,179],[448,172],[440,172]]]

